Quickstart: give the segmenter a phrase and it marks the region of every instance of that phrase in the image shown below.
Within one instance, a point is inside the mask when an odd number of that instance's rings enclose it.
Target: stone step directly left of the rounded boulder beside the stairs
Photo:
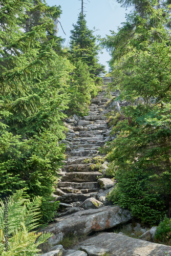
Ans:
[[[59,188],[61,187],[72,187],[73,189],[96,189],[99,188],[99,183],[96,182],[81,182],[81,183],[77,183],[77,182],[58,182],[57,186]]]

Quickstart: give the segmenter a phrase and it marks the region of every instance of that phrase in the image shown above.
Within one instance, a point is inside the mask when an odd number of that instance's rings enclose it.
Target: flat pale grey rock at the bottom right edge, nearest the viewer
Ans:
[[[171,247],[130,238],[123,234],[102,232],[79,243],[74,248],[83,246],[101,247],[110,250],[111,256],[164,256],[171,255]],[[168,254],[167,254],[167,253]]]

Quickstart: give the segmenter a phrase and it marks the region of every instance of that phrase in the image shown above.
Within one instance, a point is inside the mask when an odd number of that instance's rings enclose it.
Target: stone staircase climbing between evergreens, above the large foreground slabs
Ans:
[[[67,144],[66,165],[60,170],[61,179],[54,195],[61,206],[66,207],[61,213],[70,210],[70,207],[76,208],[75,211],[79,210],[79,206],[81,207],[89,198],[98,200],[96,203],[100,206],[110,204],[106,201],[105,195],[114,183],[111,179],[103,178],[102,181],[105,180],[105,183],[109,184],[104,185],[103,189],[100,187],[98,179],[102,173],[99,172],[94,160],[94,157],[100,156],[99,147],[110,140],[110,130],[105,116],[111,112],[106,108],[106,102],[109,100],[105,97],[104,87],[104,90],[91,100],[88,116],[81,118],[74,115],[66,120],[65,125],[69,131],[66,139],[62,141]],[[108,163],[103,163],[104,169],[107,168],[106,164]]]

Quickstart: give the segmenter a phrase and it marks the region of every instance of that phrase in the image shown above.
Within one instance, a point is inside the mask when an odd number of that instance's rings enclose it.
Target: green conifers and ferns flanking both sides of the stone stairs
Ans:
[[[24,246],[25,255],[36,255],[37,246],[50,237],[30,231],[51,222],[59,207],[52,194],[65,160],[63,120],[86,115],[91,97],[101,90],[100,48],[111,54],[109,93],[117,90],[113,100],[127,102],[110,116],[117,138],[101,148],[110,162],[108,175],[117,181],[108,198],[143,223],[165,218],[171,226],[171,2],[117,2],[133,7],[117,32],[99,37],[97,44],[80,13],[66,48],[54,35],[60,6],[43,0],[0,1],[1,255],[16,250],[15,255],[24,255]]]

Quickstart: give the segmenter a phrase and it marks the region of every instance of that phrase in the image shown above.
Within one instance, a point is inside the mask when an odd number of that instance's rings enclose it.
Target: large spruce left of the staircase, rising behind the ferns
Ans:
[[[59,140],[72,69],[47,38],[52,19],[23,31],[31,7],[31,1],[1,2],[0,193],[27,187],[31,197],[42,197],[42,220],[50,221],[58,205],[51,195],[65,150]]]

